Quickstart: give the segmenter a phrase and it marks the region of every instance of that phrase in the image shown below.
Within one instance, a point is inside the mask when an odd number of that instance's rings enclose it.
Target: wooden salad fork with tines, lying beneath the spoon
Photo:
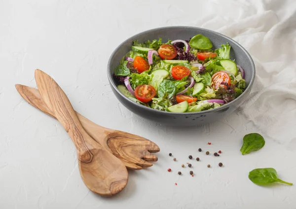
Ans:
[[[44,104],[37,89],[20,84],[16,84],[15,87],[28,103],[55,118],[54,112]],[[159,152],[159,147],[154,142],[134,134],[99,126],[78,112],[76,115],[86,133],[119,158],[128,169],[140,170],[152,166],[147,161],[157,161],[157,157],[151,154]]]

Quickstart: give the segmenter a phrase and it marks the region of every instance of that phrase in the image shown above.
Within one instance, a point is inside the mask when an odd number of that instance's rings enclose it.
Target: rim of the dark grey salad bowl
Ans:
[[[124,44],[132,41],[132,40],[135,40],[135,38],[138,36],[138,35],[143,35],[143,34],[146,34],[146,33],[149,33],[149,32],[154,32],[154,31],[158,31],[158,30],[165,30],[165,29],[198,29],[200,31],[205,31],[205,32],[210,32],[210,33],[213,33],[213,34],[216,34],[216,35],[220,35],[222,36],[223,38],[225,38],[226,40],[228,41],[231,41],[231,42],[234,42],[242,51],[244,51],[247,55],[247,58],[251,60],[251,69],[252,69],[252,78],[251,78],[251,81],[248,85],[248,87],[245,89],[245,91],[239,96],[237,97],[235,100],[231,101],[230,103],[227,103],[227,104],[224,104],[220,107],[216,107],[214,109],[209,109],[209,110],[203,110],[203,111],[199,111],[199,112],[168,112],[168,111],[161,111],[161,110],[158,110],[158,109],[153,109],[153,108],[150,108],[148,106],[144,106],[142,104],[138,104],[138,103],[135,103],[133,102],[132,100],[128,99],[125,95],[123,95],[117,88],[117,86],[115,85],[115,82],[113,80],[113,77],[112,77],[112,74],[111,74],[111,69],[110,69],[110,66],[111,66],[111,61],[116,53],[116,51]],[[150,30],[147,30],[147,31],[143,31],[141,33],[138,33],[136,35],[133,35],[129,38],[127,38],[126,40],[124,40],[123,42],[121,42],[115,49],[114,51],[112,52],[109,60],[108,60],[108,64],[107,64],[107,73],[108,73],[108,79],[109,79],[109,82],[112,86],[112,88],[124,99],[126,100],[128,103],[130,103],[131,105],[136,105],[138,106],[141,110],[143,111],[150,111],[150,112],[153,112],[153,113],[162,113],[162,114],[168,114],[168,115],[188,115],[188,114],[192,114],[192,115],[198,115],[198,114],[205,114],[205,113],[208,113],[208,112],[218,112],[218,111],[221,111],[223,109],[227,109],[229,108],[232,104],[238,102],[244,95],[247,94],[247,92],[249,92],[249,90],[251,90],[252,88],[252,85],[254,83],[254,80],[255,80],[255,75],[256,75],[256,69],[255,69],[255,64],[254,64],[254,61],[251,57],[251,55],[249,54],[249,52],[242,46],[240,45],[238,42],[236,42],[235,40],[233,40],[232,38],[226,36],[226,35],[223,35],[223,34],[220,34],[218,32],[215,32],[215,31],[212,31],[212,30],[209,30],[209,29],[204,29],[204,28],[198,28],[198,27],[192,27],[192,26],[167,26],[167,27],[160,27],[160,28],[154,28],[154,29],[150,29]]]

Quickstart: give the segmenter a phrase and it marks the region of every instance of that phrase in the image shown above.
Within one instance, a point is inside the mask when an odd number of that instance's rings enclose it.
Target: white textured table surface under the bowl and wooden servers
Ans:
[[[243,136],[260,131],[239,111],[202,127],[149,122],[117,101],[106,74],[112,50],[131,35],[172,25],[218,30],[222,26],[209,14],[234,23],[245,18],[245,11],[262,12],[264,5],[242,0],[223,6],[219,0],[0,0],[0,209],[295,209],[296,186],[257,186],[248,173],[273,167],[280,178],[296,183],[296,144],[287,147],[265,137],[263,149],[242,156]],[[74,108],[92,121],[156,142],[158,162],[130,171],[126,188],[113,198],[90,192],[63,127],[14,88],[16,83],[36,87],[37,68],[53,76]],[[219,158],[205,155],[220,149]],[[181,168],[186,162],[192,162],[191,169]]]

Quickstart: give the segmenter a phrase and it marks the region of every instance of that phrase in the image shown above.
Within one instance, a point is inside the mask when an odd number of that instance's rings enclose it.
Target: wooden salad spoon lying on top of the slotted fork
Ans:
[[[49,75],[35,70],[35,79],[44,103],[74,142],[84,184],[102,196],[120,192],[128,181],[124,164],[85,132],[66,94]]]

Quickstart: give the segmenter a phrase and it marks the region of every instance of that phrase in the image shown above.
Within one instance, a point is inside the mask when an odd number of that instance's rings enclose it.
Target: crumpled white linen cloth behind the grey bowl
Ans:
[[[243,114],[263,135],[282,144],[296,142],[296,1],[215,2],[217,15],[192,26],[220,32],[247,49],[257,75]],[[236,20],[223,15],[236,12]],[[283,138],[283,133],[289,137]]]

